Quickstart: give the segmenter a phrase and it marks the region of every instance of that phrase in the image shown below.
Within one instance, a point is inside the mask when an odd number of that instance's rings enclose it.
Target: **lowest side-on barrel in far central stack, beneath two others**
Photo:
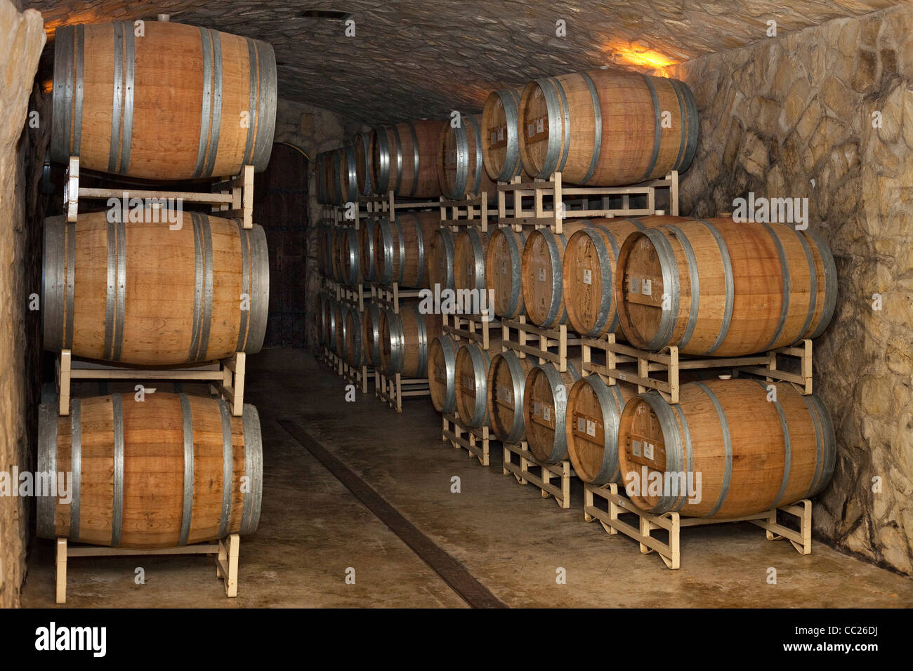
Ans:
[[[399,313],[381,311],[381,370],[404,377],[427,377],[428,347],[443,331],[439,314],[422,314],[418,303],[400,305]]]

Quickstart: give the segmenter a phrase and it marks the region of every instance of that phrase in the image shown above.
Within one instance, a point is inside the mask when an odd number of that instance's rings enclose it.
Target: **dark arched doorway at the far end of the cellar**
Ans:
[[[304,278],[308,227],[308,157],[273,145],[269,165],[254,176],[254,222],[269,246],[269,317],[264,347],[304,347]]]

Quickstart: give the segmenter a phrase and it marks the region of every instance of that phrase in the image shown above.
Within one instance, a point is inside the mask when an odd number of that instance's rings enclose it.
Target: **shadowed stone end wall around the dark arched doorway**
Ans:
[[[320,204],[317,202],[315,158],[318,152],[340,147],[355,132],[362,130],[357,121],[347,120],[329,110],[322,110],[289,100],[278,100],[276,109],[276,137],[274,142],[288,142],[305,152],[310,159],[308,168],[308,260],[305,271],[305,329],[310,346],[316,347],[317,293],[320,274],[317,270],[317,222],[320,221]]]

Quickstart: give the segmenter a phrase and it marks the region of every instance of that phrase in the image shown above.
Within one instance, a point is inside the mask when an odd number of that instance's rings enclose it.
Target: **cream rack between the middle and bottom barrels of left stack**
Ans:
[[[58,412],[69,414],[70,383],[73,380],[171,380],[210,383],[210,390],[226,401],[231,414],[240,417],[244,410],[246,368],[247,353],[243,351],[236,351],[232,357],[222,361],[152,369],[92,362],[72,356],[70,350],[62,350],[58,362]]]

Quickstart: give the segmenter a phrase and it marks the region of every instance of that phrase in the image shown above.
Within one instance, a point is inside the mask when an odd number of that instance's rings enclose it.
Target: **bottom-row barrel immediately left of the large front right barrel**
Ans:
[[[609,385],[595,374],[573,383],[565,431],[568,455],[583,482],[605,485],[620,481],[618,423],[625,402],[636,393],[633,385]]]

